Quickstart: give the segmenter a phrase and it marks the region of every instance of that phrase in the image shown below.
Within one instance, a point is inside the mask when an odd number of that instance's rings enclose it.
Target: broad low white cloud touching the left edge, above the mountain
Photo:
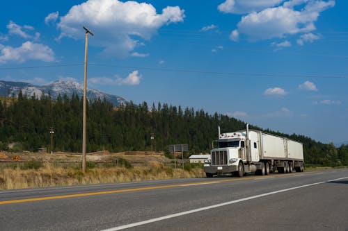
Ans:
[[[25,62],[26,60],[54,61],[54,52],[48,46],[34,42],[24,42],[22,46],[0,47],[0,64],[7,62]]]

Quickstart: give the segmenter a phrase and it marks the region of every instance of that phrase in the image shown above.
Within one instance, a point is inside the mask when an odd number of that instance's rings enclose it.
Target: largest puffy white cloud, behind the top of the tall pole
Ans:
[[[84,39],[82,26],[95,33],[90,44],[104,48],[103,53],[112,56],[127,56],[142,40],[150,40],[161,26],[183,22],[184,10],[167,6],[156,12],[150,3],[118,0],[88,0],[70,8],[67,15],[59,18],[59,39],[73,37]]]

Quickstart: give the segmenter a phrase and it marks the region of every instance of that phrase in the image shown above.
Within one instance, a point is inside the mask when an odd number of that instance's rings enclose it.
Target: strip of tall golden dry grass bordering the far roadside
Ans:
[[[46,162],[38,169],[1,168],[0,189],[165,180],[183,176],[186,178],[203,177],[203,168],[194,166],[187,171],[179,168],[175,171],[171,165],[151,161],[145,166],[134,166],[131,169],[124,166],[93,167],[83,174],[77,167],[56,167]]]

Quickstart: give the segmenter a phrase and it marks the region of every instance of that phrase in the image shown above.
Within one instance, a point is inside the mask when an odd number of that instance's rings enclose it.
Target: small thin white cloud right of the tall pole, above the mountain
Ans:
[[[141,78],[143,78],[143,76],[139,74],[138,70],[135,70],[126,78],[120,78],[119,76],[116,76],[116,78],[88,78],[88,83],[92,85],[139,85]]]

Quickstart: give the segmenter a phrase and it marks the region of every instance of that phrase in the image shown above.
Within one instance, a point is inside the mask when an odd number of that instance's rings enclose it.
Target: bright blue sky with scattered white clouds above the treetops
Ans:
[[[345,142],[347,8],[344,0],[4,1],[0,80],[83,84],[86,26],[88,88]]]

